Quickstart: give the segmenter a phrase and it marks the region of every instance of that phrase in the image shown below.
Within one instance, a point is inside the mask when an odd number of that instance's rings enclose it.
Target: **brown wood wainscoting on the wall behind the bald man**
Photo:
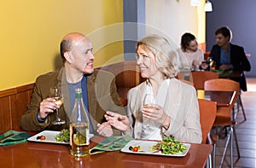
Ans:
[[[117,89],[123,103],[127,102],[128,90],[143,81],[134,61],[123,61],[97,69],[112,72],[116,76]],[[9,90],[0,90],[0,133],[20,130],[20,117],[26,112],[33,87],[34,84],[26,84]]]

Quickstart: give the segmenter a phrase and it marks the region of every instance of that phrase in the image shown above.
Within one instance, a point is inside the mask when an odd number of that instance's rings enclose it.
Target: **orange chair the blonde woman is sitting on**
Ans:
[[[212,167],[215,167],[215,151],[216,151],[216,142],[218,136],[211,136],[210,131],[212,130],[213,123],[217,114],[217,105],[214,101],[207,101],[204,99],[198,99],[199,111],[200,111],[200,123],[201,123],[201,133],[202,133],[202,142],[212,144]],[[211,157],[209,157],[211,159]],[[208,162],[210,162],[209,160]],[[211,165],[211,162],[209,163]]]

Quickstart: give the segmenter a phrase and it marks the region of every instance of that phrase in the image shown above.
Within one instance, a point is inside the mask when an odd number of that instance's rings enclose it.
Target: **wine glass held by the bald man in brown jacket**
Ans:
[[[59,105],[61,107],[62,103],[63,103],[63,98],[61,96],[61,91],[58,90],[57,87],[51,87],[49,89],[49,97],[52,97],[55,99],[55,104]],[[65,120],[62,120],[60,118],[60,113],[59,113],[59,108],[55,109],[56,111],[56,118],[55,121],[53,121],[53,125],[64,125],[66,123]]]

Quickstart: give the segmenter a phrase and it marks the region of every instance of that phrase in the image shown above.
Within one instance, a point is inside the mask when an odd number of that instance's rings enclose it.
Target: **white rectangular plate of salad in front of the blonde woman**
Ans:
[[[124,153],[131,153],[131,154],[151,154],[151,155],[160,155],[160,156],[174,156],[174,157],[183,157],[189,152],[190,144],[189,143],[183,143],[186,147],[186,150],[183,153],[177,153],[177,154],[159,154],[159,153],[151,153],[149,151],[149,148],[155,145],[157,142],[153,141],[140,141],[140,140],[131,140],[131,142],[128,142],[124,148],[121,149],[121,152]],[[138,152],[132,152],[129,147],[131,146],[140,146],[143,151]]]

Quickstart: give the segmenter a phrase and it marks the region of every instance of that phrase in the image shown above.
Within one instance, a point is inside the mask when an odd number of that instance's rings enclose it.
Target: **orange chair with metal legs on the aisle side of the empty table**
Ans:
[[[215,122],[213,126],[215,127],[225,127],[230,128],[227,141],[224,148],[224,154],[221,159],[220,167],[222,167],[224,163],[225,154],[228,148],[228,145],[230,143],[230,164],[231,167],[233,167],[233,136],[235,136],[235,142],[236,142],[236,150],[238,158],[240,158],[240,151],[238,147],[237,137],[236,137],[236,129],[235,125],[236,122],[231,117],[232,108],[234,107],[235,102],[237,101],[240,85],[234,80],[230,80],[227,78],[215,78],[207,80],[204,84],[205,90],[226,90],[226,91],[236,91],[236,96],[234,97],[234,100],[232,101],[232,104],[229,107],[218,107],[217,108],[217,115]]]

